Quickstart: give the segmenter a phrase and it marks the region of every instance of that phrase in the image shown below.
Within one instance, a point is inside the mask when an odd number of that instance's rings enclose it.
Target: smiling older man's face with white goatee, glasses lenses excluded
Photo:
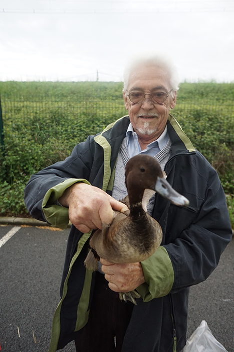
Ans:
[[[134,130],[139,137],[149,138],[151,141],[157,139],[166,126],[169,110],[176,104],[176,95],[172,99],[169,76],[157,66],[140,66],[136,72],[129,77],[128,91],[124,94],[125,108],[128,110],[129,118]],[[132,103],[127,96],[131,92],[165,92],[169,94],[162,104],[154,103],[149,95],[140,104]]]

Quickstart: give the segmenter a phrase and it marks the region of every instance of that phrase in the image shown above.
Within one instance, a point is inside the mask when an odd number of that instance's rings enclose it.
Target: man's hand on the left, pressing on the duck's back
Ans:
[[[69,208],[71,223],[84,233],[101,229],[102,223],[110,224],[113,209],[120,212],[128,209],[101,189],[81,182],[69,187],[59,198],[59,203]]]

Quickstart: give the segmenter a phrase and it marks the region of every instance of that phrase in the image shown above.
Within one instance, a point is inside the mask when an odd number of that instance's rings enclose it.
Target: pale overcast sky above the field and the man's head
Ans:
[[[234,0],[0,0],[0,80],[121,81],[142,51],[233,82]]]

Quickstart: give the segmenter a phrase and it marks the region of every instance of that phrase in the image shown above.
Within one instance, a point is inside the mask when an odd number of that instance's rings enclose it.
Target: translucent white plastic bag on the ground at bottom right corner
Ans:
[[[227,352],[227,350],[212,335],[205,320],[191,334],[183,352]]]

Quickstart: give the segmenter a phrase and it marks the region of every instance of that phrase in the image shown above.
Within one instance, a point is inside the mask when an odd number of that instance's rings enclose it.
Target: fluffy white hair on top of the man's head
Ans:
[[[129,77],[131,73],[137,71],[141,66],[145,67],[159,67],[165,70],[169,74],[170,85],[172,89],[172,97],[174,92],[179,89],[179,78],[177,73],[177,68],[174,65],[174,62],[166,54],[144,54],[138,58],[132,59],[126,66],[123,74],[123,92],[125,93],[128,89]]]

